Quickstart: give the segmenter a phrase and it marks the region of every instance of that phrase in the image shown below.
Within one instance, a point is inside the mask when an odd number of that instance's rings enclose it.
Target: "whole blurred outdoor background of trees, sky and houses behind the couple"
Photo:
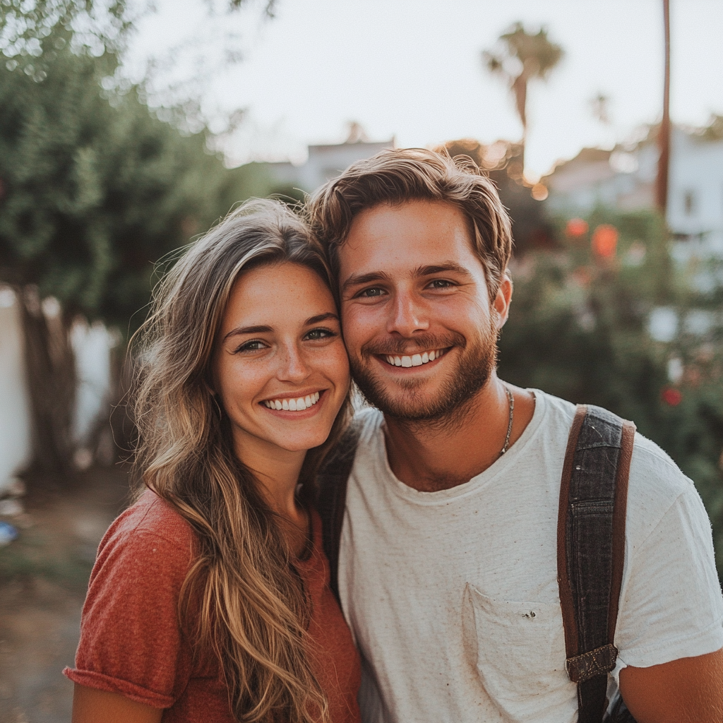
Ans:
[[[722,41],[718,0],[0,0],[0,723],[69,721],[164,255],[386,147],[495,180],[500,375],[662,445],[722,575]]]

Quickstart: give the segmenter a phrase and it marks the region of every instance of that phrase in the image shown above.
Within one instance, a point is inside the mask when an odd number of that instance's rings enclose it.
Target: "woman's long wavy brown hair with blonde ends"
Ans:
[[[228,417],[211,391],[215,340],[234,282],[282,262],[329,284],[304,222],[281,202],[253,200],[191,244],[158,284],[132,343],[134,479],[137,494],[152,489],[200,540],[179,616],[197,653],[210,648],[218,656],[236,718],[317,723],[328,720],[328,706],[309,663],[309,601],[278,518],[236,457]],[[328,440],[306,455],[299,479],[306,500],[348,410],[346,401]]]

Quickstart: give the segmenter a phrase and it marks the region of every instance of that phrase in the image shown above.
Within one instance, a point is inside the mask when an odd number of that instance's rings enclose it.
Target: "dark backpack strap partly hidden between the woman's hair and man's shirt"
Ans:
[[[329,586],[339,600],[339,543],[346,508],[346,484],[354,466],[361,424],[352,420],[317,474],[317,510],[322,521],[322,544],[329,560]]]

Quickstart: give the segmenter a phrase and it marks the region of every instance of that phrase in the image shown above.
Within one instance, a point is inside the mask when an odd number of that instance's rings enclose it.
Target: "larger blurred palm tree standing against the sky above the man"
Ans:
[[[502,76],[515,98],[515,108],[522,122],[522,149],[527,138],[527,82],[534,78],[547,80],[549,72],[560,62],[564,51],[547,38],[547,28],[528,33],[521,22],[515,22],[500,35],[499,47],[482,52],[482,61],[489,72]]]

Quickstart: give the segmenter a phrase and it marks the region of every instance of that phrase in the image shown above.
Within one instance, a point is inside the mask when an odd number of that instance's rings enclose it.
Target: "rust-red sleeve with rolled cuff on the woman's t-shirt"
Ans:
[[[178,619],[190,553],[188,545],[143,529],[104,539],[83,607],[75,668],[65,675],[148,706],[172,706],[190,676]]]

